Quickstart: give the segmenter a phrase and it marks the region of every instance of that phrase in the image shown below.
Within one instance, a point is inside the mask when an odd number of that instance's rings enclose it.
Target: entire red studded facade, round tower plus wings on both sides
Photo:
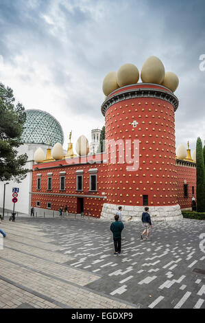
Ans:
[[[144,199],[151,206],[179,203],[181,208],[191,208],[195,166],[176,165],[176,102],[173,93],[160,85],[137,84],[112,92],[101,107],[107,153],[34,165],[32,206],[38,202],[47,209],[51,203],[51,210],[59,210],[67,205],[71,213],[83,208],[85,215],[95,217],[104,203],[142,206]],[[91,191],[94,173],[95,192]],[[77,190],[77,174],[82,175],[82,190]],[[61,176],[64,190],[60,190]],[[184,197],[184,180],[188,197]]]

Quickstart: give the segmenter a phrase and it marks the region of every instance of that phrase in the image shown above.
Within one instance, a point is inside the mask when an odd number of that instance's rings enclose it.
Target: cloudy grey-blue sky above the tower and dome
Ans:
[[[0,35],[0,82],[60,122],[65,149],[104,126],[106,74],[153,55],[180,80],[176,146],[204,142],[204,0],[0,0]]]

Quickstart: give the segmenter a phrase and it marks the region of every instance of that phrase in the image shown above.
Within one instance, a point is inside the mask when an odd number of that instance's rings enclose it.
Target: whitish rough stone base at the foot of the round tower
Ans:
[[[119,205],[104,203],[100,219],[114,220]],[[121,205],[123,221],[141,221],[144,206]],[[149,206],[151,221],[179,221],[183,219],[180,205]]]

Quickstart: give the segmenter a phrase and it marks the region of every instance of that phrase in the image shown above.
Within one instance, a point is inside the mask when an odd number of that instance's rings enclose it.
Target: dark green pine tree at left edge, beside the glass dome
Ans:
[[[0,82],[0,181],[22,181],[27,169],[27,155],[18,155],[25,123],[25,109],[21,103],[14,104],[13,90]]]

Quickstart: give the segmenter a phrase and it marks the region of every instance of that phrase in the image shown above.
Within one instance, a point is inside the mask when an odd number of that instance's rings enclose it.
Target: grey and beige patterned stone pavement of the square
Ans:
[[[124,225],[114,256],[109,221],[5,219],[0,308],[205,309],[205,221]]]

